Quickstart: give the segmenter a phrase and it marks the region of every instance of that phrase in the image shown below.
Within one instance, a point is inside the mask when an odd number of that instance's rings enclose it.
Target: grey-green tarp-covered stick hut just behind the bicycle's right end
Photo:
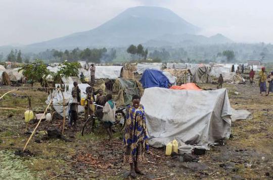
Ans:
[[[118,96],[114,98],[117,107],[126,106],[131,103],[133,95],[142,96],[143,88],[139,81],[117,78],[113,84],[113,93],[118,94]]]

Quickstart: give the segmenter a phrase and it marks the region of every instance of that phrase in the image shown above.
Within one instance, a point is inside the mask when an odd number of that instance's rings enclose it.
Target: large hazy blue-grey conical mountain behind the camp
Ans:
[[[168,9],[135,7],[125,10],[95,29],[28,46],[35,48],[127,46],[131,43],[143,43],[164,34],[195,34],[198,30],[198,27]]]

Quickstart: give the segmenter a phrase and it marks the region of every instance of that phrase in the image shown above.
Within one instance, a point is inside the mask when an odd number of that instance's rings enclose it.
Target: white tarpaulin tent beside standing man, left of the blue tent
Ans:
[[[96,79],[116,79],[121,77],[123,66],[96,66]],[[90,71],[88,71],[90,74]],[[90,75],[89,75],[90,77]]]

